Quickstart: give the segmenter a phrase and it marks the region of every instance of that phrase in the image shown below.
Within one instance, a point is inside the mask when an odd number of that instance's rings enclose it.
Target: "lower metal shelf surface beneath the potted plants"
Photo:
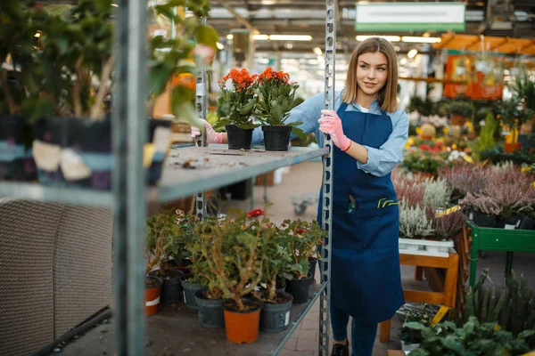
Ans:
[[[325,285],[323,285],[325,286]],[[224,328],[202,328],[197,311],[188,309],[184,303],[167,307],[146,318],[145,354],[191,355],[191,356],[268,356],[276,355],[300,321],[317,301],[321,285],[310,287],[309,302],[294,304],[290,311],[289,328],[281,333],[261,332],[252,344],[233,344],[226,340]],[[110,325],[97,326],[62,349],[63,356],[113,355],[116,352],[115,320]]]

